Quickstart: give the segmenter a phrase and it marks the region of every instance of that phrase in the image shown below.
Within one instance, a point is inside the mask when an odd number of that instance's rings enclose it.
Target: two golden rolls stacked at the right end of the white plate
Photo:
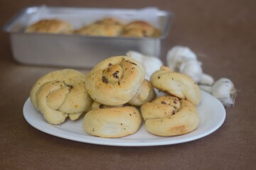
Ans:
[[[166,95],[142,106],[146,130],[159,136],[195,130],[200,121],[196,106],[201,101],[201,92],[193,79],[163,66],[151,75],[150,81]]]

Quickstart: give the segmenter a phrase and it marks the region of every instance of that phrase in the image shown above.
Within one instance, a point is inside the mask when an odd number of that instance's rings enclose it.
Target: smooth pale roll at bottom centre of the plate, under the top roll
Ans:
[[[95,108],[85,114],[82,126],[85,132],[97,137],[124,137],[142,125],[142,115],[132,106]]]

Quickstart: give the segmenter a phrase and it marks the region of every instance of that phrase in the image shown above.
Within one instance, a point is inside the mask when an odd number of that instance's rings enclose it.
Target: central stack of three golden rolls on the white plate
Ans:
[[[131,57],[110,57],[97,64],[85,82],[98,103],[85,115],[85,132],[100,137],[124,137],[136,132],[142,125],[142,115],[135,106],[155,96],[144,77],[144,67]]]

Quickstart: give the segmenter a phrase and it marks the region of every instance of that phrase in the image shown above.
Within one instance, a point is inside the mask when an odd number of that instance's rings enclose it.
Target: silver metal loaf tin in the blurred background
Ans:
[[[127,22],[148,21],[158,27],[162,35],[159,38],[124,38],[24,32],[27,26],[42,18],[59,18],[78,28],[82,24],[109,16],[123,18]],[[11,49],[17,62],[41,66],[91,68],[107,57],[125,55],[129,50],[159,57],[161,40],[169,34],[172,18],[173,13],[157,8],[30,6],[23,8],[11,18],[4,26],[4,31],[10,34]]]

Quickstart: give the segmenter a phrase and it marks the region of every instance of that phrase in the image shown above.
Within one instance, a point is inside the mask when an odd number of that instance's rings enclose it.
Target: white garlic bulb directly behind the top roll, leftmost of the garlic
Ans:
[[[129,51],[127,52],[128,57],[132,57],[142,64],[145,69],[145,79],[149,80],[151,74],[159,70],[163,65],[163,62],[157,57],[142,55],[139,52]]]

